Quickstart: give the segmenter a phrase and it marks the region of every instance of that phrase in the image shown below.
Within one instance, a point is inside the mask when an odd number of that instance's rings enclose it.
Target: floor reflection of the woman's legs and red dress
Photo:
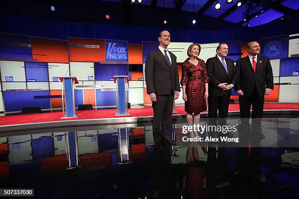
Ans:
[[[187,173],[183,178],[184,199],[204,199],[206,188],[205,161],[200,160],[197,143],[193,142],[186,153]]]

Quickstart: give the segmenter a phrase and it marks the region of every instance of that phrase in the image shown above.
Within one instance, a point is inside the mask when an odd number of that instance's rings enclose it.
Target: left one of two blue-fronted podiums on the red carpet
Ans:
[[[64,101],[65,101],[65,112],[64,117],[66,118],[77,118],[75,112],[75,86],[74,84],[79,83],[76,77],[58,77],[63,82],[62,84],[62,103],[64,112]]]

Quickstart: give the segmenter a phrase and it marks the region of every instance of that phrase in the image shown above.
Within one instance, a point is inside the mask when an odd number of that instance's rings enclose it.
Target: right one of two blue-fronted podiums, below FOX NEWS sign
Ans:
[[[128,76],[113,76],[116,83],[116,109],[115,116],[128,116]]]

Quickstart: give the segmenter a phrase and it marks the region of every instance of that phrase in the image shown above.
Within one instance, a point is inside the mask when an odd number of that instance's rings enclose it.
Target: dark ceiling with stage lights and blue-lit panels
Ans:
[[[45,20],[165,26],[198,30],[254,27],[299,14],[299,0],[4,0],[0,13]],[[51,11],[54,5],[56,10]],[[110,19],[106,19],[106,14]],[[196,23],[192,24],[195,19]],[[246,21],[244,21],[244,19]],[[167,24],[163,24],[167,20]]]

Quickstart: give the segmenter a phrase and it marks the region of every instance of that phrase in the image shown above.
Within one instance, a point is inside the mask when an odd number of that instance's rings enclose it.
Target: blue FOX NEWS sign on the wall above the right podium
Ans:
[[[127,42],[107,42],[106,60],[108,61],[128,60]]]

